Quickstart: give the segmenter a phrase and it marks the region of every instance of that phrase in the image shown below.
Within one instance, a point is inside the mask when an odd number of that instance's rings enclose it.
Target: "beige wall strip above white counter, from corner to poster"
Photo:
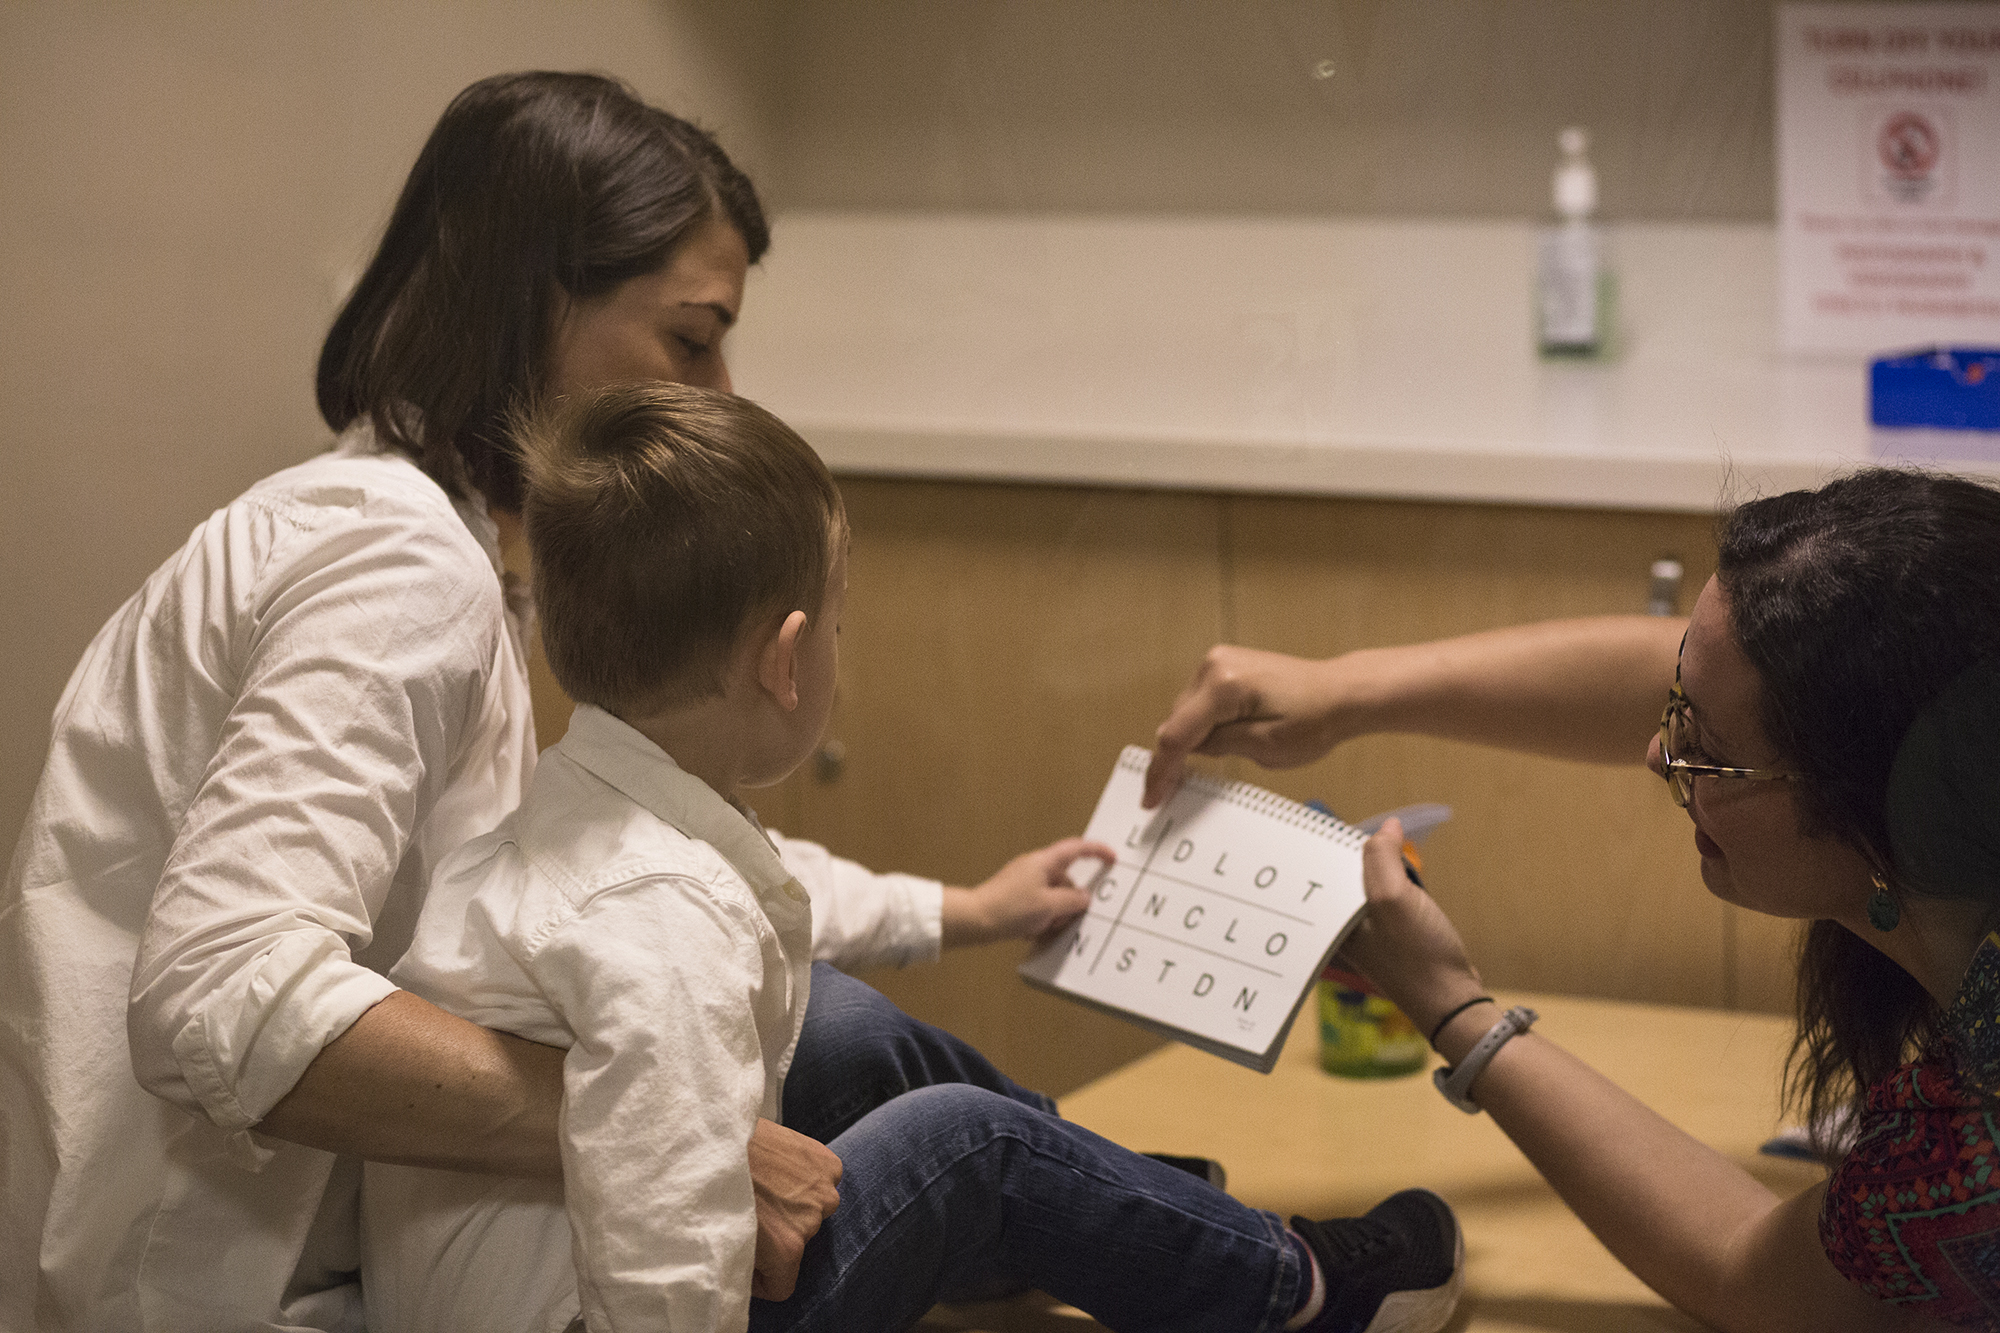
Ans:
[[[818,0],[782,60],[794,204],[1534,216],[1586,124],[1612,218],[1772,216],[1770,0]]]

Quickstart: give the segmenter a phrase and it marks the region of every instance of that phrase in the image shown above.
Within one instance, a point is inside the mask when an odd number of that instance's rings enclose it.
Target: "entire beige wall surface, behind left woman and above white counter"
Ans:
[[[1768,0],[4,0],[0,831],[90,632],[322,442],[336,292],[472,78],[624,74],[780,208],[1530,214],[1574,118],[1614,216],[1756,218],[1768,32]]]

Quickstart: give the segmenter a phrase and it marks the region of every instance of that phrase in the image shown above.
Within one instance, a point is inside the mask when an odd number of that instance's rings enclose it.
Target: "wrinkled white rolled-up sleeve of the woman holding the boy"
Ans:
[[[228,518],[256,522],[284,520]],[[146,1089],[246,1129],[394,991],[352,951],[506,628],[490,562],[436,514],[368,502],[268,542],[228,524],[196,554],[204,592],[160,610],[230,598],[202,669],[234,679],[234,705],[154,893],[126,1021]],[[246,568],[248,548],[268,554]]]

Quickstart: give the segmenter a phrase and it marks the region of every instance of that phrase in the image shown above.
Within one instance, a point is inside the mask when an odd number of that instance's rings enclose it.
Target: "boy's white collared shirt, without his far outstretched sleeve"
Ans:
[[[810,967],[812,907],[754,817],[598,709],[542,755],[520,811],[440,869],[390,979],[568,1049],[564,1203],[594,1333],[746,1325],[746,1149],[780,1117]],[[508,1285],[500,1309],[560,1327],[574,1305],[522,1289],[548,1281],[546,1209],[510,1219],[510,1195],[478,1193],[450,1217],[438,1175],[368,1167],[370,1327],[478,1323]]]

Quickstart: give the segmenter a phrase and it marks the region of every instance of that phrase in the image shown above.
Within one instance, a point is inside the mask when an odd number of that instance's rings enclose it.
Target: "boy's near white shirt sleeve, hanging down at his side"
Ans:
[[[760,929],[762,927],[762,929]],[[584,1321],[740,1333],[750,1319],[766,987],[776,935],[680,877],[602,893],[528,961],[576,1035],[562,1065],[562,1183]],[[776,1109],[776,1107],[772,1107]]]

